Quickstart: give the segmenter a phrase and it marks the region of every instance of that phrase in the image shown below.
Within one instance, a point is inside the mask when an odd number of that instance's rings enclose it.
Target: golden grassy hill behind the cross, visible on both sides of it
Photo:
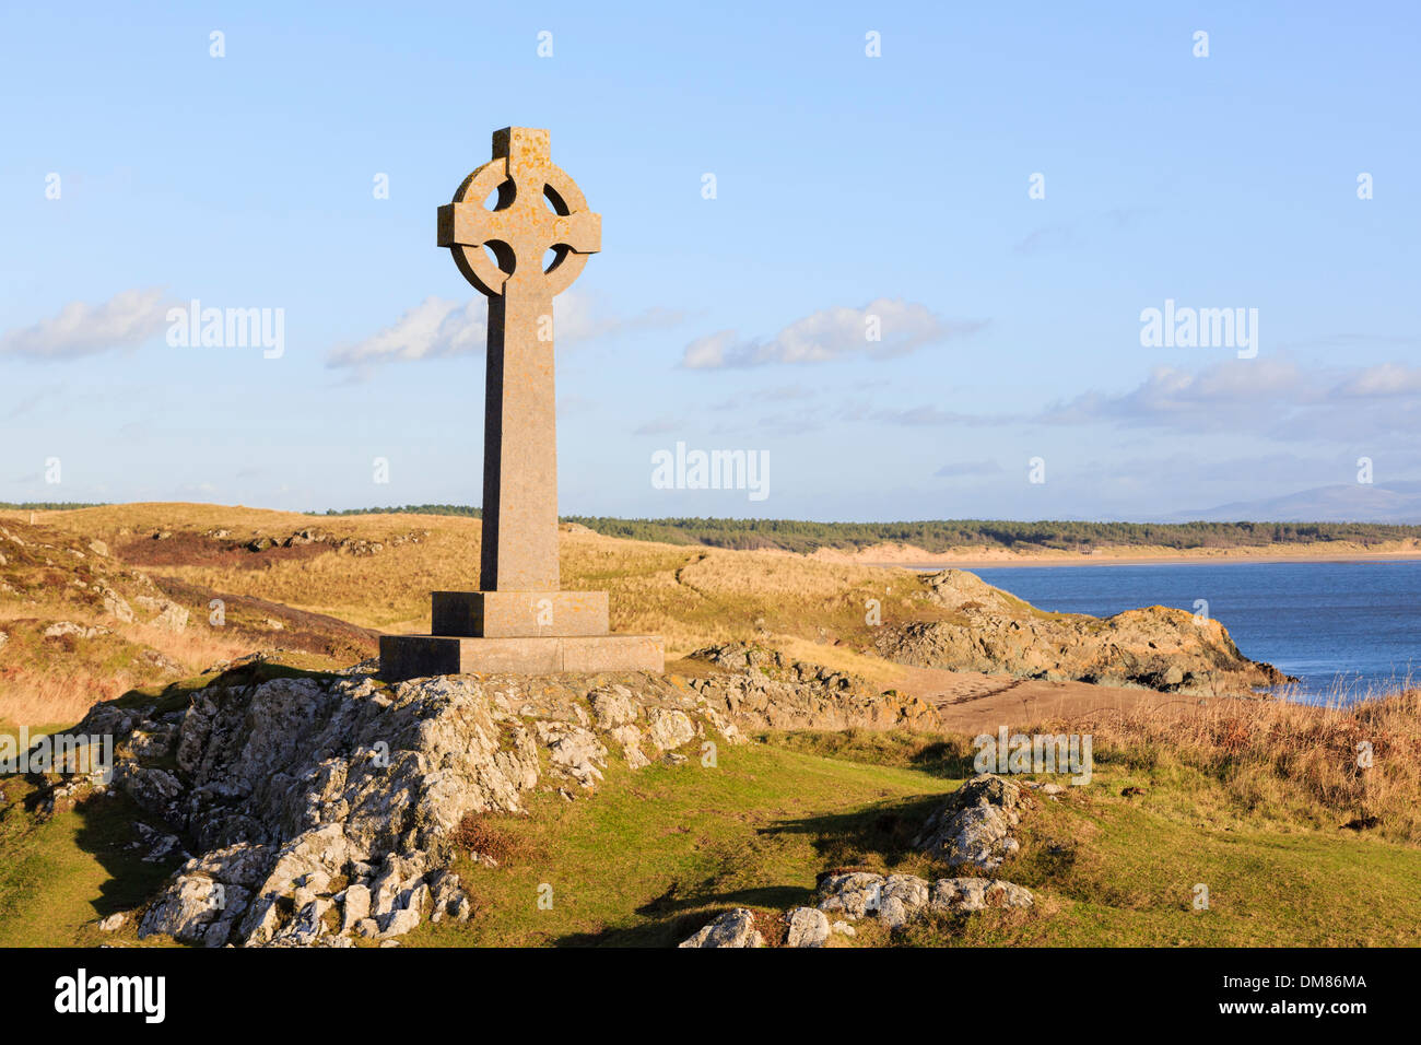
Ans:
[[[54,621],[99,626],[142,655],[153,647],[189,671],[252,650],[284,650],[306,655],[310,667],[344,667],[374,655],[374,631],[421,631],[429,627],[432,590],[477,587],[480,522],[456,515],[375,515],[313,519],[294,512],[269,512],[216,505],[109,505],[38,512],[0,512],[0,525],[36,550],[26,562],[0,564],[0,630],[14,633],[11,658],[27,664],[31,688],[37,674],[74,668],[75,677],[101,697],[156,681],[152,672],[114,674],[109,661],[90,665],[70,643],[58,655],[41,638]],[[92,542],[107,554],[95,553]],[[41,547],[47,546],[47,547]],[[11,556],[14,557],[14,556]],[[142,623],[115,626],[102,607],[80,601],[75,580],[99,569],[132,597],[148,577],[153,596],[183,606],[192,624],[180,636],[161,634]],[[712,641],[774,638],[793,651],[799,644],[841,647],[820,651],[860,674],[875,665],[851,650],[868,644],[864,604],[878,599],[885,616],[938,610],[909,572],[809,562],[776,552],[740,553],[657,542],[621,540],[564,526],[563,587],[608,590],[612,628],[661,634],[672,657]],[[91,583],[91,582],[85,582]],[[225,606],[226,623],[209,624],[212,600]],[[7,628],[6,621],[11,621]],[[20,644],[47,657],[18,661]],[[45,653],[47,651],[47,653]],[[82,668],[82,671],[80,671]],[[3,671],[0,665],[0,671]],[[3,678],[3,675],[0,675]],[[109,681],[104,681],[108,678]],[[50,687],[54,688],[54,687]],[[74,687],[70,687],[74,688]],[[0,692],[0,719],[6,718]],[[11,715],[13,718],[13,715]]]

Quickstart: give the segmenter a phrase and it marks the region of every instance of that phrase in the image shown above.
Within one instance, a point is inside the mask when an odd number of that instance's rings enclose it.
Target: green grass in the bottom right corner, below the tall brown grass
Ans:
[[[1113,773],[1043,803],[1003,867],[1046,901],[1042,917],[968,926],[963,944],[1405,945],[1421,924],[1421,852],[1347,832],[1189,823],[1151,792],[1118,798]],[[1165,796],[1167,798],[1167,796]],[[1164,805],[1164,803],[1161,803]],[[1195,910],[1195,886],[1208,909]]]

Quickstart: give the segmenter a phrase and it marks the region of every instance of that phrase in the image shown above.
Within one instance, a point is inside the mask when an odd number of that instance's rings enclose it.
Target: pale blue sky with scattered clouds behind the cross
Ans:
[[[0,500],[477,503],[485,306],[435,209],[507,125],[603,215],[563,513],[1421,479],[1421,16],[1235,7],[6,6]],[[280,309],[281,355],[171,345],[193,299]],[[1142,345],[1165,300],[1256,309],[1256,355]],[[767,454],[769,496],[654,488],[676,442]]]

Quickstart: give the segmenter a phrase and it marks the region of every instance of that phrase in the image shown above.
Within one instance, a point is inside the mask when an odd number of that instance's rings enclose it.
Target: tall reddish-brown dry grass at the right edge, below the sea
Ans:
[[[1071,728],[1081,729],[1076,722]],[[1042,724],[1059,732],[1060,724]],[[1029,731],[1030,732],[1030,731]],[[1380,835],[1421,842],[1421,691],[1341,707],[1219,701],[1184,717],[1144,707],[1090,727],[1097,762],[1168,772],[1184,766],[1223,785],[1248,813],[1310,827],[1370,822]],[[1370,749],[1371,766],[1361,765]]]

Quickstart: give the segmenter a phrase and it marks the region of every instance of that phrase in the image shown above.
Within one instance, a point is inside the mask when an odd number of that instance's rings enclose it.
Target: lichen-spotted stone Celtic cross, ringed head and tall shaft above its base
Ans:
[[[547,131],[495,131],[493,159],[439,208],[439,246],[489,297],[483,591],[558,590],[553,297],[601,242],[601,215],[553,164]]]

